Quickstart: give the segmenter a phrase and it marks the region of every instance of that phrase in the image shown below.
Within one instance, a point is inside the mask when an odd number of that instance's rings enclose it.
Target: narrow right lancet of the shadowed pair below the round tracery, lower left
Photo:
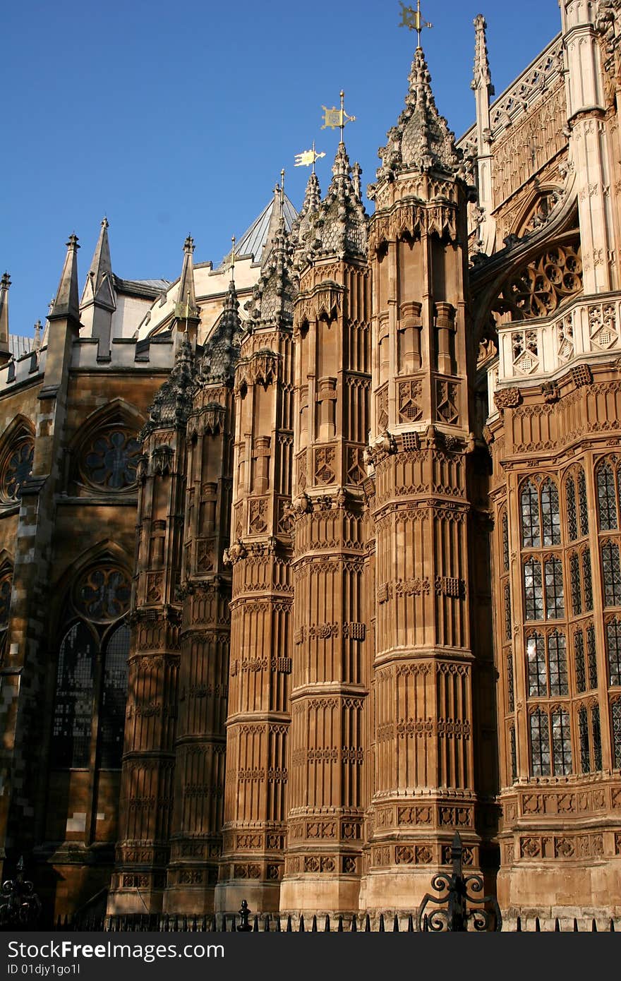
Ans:
[[[100,763],[119,768],[123,755],[128,691],[129,627],[121,624],[110,635],[104,652],[100,718]]]

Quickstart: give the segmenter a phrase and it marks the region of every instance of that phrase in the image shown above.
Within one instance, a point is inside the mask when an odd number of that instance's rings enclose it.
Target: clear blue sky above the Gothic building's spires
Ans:
[[[415,6],[415,0],[410,0]],[[440,112],[457,136],[474,119],[473,19],[488,20],[497,94],[560,29],[556,0],[424,0]],[[363,187],[403,108],[416,34],[397,0],[35,0],[3,13],[0,272],[12,277],[10,330],[30,334],[56,291],[65,242],[78,234],[80,288],[101,218],[126,279],[219,262],[285,167],[299,208],[313,139],[325,192],[338,130],[322,105],[356,116],[345,133]]]

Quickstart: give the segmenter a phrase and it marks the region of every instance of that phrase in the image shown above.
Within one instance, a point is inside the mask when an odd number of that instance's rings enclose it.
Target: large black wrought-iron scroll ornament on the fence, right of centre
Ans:
[[[478,931],[502,929],[502,917],[495,897],[472,895],[483,893],[483,876],[462,875],[463,851],[459,832],[456,831],[450,848],[452,872],[449,876],[440,874],[433,877],[432,889],[442,895],[435,897],[427,893],[423,897],[417,913],[419,931],[463,933],[468,930],[469,922],[471,929]],[[427,907],[434,903],[442,908],[431,907],[431,911],[427,912]],[[477,906],[473,908],[468,904]]]

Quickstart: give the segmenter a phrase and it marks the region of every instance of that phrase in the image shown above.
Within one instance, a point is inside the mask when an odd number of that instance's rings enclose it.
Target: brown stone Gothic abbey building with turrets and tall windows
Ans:
[[[422,48],[222,264],[0,285],[0,855],[50,915],[621,917],[621,0]],[[342,133],[342,130],[341,130]]]

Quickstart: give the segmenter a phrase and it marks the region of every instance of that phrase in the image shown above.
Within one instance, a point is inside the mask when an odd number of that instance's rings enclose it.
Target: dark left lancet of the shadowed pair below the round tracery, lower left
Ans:
[[[89,765],[95,657],[92,634],[81,621],[75,623],[58,655],[52,745],[56,766]]]

